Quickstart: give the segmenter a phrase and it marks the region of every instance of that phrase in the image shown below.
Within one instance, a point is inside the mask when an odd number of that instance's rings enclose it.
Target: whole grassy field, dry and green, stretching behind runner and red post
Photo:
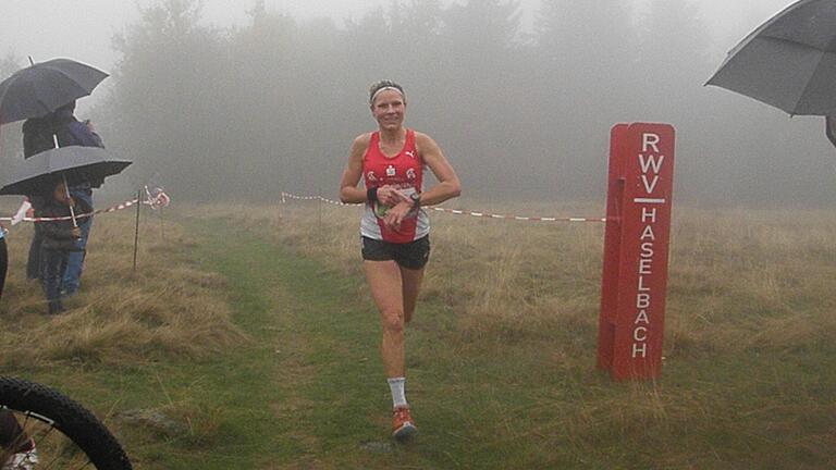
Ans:
[[[140,469],[836,467],[833,211],[675,208],[664,367],[643,383],[594,369],[602,225],[432,214],[408,446],[386,437],[358,217],[146,214],[134,272],[133,214],[102,215],[57,318],[23,279],[30,228],[15,227],[0,372],[88,405]]]

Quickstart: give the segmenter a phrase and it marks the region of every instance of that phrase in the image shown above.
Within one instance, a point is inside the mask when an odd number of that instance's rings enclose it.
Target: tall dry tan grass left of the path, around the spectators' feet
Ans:
[[[0,363],[60,361],[130,364],[169,357],[206,358],[246,341],[230,318],[224,280],[184,255],[195,244],[171,221],[144,209],[137,269],[134,213],[97,217],[76,296],[48,316],[40,284],[25,279],[32,224],[11,230],[9,275],[0,302]]]

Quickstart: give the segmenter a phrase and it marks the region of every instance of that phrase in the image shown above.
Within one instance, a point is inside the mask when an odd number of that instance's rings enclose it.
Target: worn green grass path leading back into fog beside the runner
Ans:
[[[235,321],[253,338],[223,360],[238,364],[218,383],[243,407],[225,423],[239,459],[221,463],[212,453],[200,468],[433,467],[388,438],[379,326],[356,280],[244,232],[201,225],[199,233],[202,262],[228,279]]]

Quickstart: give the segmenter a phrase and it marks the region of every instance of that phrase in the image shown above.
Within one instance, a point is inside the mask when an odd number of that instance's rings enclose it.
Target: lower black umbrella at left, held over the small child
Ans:
[[[59,178],[70,186],[83,182],[100,182],[119,174],[132,162],[114,158],[99,147],[69,146],[36,153],[0,187],[0,195],[33,195],[51,191]]]

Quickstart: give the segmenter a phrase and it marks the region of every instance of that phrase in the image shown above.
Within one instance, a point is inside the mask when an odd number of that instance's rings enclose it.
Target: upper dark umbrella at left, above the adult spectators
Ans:
[[[32,64],[0,83],[0,124],[40,118],[85,97],[108,74],[70,59]]]

